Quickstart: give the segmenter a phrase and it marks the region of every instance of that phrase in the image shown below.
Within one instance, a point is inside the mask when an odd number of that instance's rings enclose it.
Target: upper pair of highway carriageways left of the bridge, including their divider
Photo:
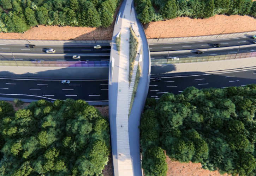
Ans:
[[[25,44],[3,45],[0,44],[0,59],[22,61],[106,61],[109,60],[111,46],[109,43],[102,43],[100,49],[95,49],[96,44],[69,44],[69,45],[36,45],[35,49],[30,49]],[[55,54],[47,54],[46,50],[53,48]],[[78,55],[81,59],[73,59]]]

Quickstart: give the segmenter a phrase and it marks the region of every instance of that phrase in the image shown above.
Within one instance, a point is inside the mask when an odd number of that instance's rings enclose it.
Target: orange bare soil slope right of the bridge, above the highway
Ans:
[[[256,31],[256,19],[240,15],[215,15],[208,19],[178,17],[144,25],[148,39],[208,36],[226,33]]]

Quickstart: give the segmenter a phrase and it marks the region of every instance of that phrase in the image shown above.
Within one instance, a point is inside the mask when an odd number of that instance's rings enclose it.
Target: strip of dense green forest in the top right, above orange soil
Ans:
[[[256,16],[252,0],[135,0],[143,24],[176,17],[209,18],[216,14]],[[154,6],[154,7],[153,7]]]

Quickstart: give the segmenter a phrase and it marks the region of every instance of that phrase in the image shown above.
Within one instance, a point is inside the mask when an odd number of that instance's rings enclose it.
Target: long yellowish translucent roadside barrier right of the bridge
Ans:
[[[247,57],[256,57],[256,52],[246,52],[246,53],[228,54],[228,55],[203,56],[203,57],[184,57],[184,58],[179,58],[178,61],[173,61],[173,59],[152,59],[151,58],[151,65],[167,65],[167,64],[179,64],[179,63],[222,61],[222,60],[240,59],[240,58],[247,58]]]

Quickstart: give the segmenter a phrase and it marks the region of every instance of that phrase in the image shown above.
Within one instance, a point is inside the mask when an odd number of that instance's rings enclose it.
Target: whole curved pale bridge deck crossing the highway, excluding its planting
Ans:
[[[142,73],[137,88],[139,93],[136,94],[129,118],[129,96],[132,94],[129,91],[129,28],[131,24],[136,36],[139,36],[136,68],[139,64]],[[118,52],[115,38],[119,34],[121,37]],[[136,18],[133,0],[124,0],[115,21],[109,64],[109,121],[114,176],[142,176],[138,126],[148,93],[149,78],[150,55],[143,26]],[[134,107],[135,105],[137,107]]]

